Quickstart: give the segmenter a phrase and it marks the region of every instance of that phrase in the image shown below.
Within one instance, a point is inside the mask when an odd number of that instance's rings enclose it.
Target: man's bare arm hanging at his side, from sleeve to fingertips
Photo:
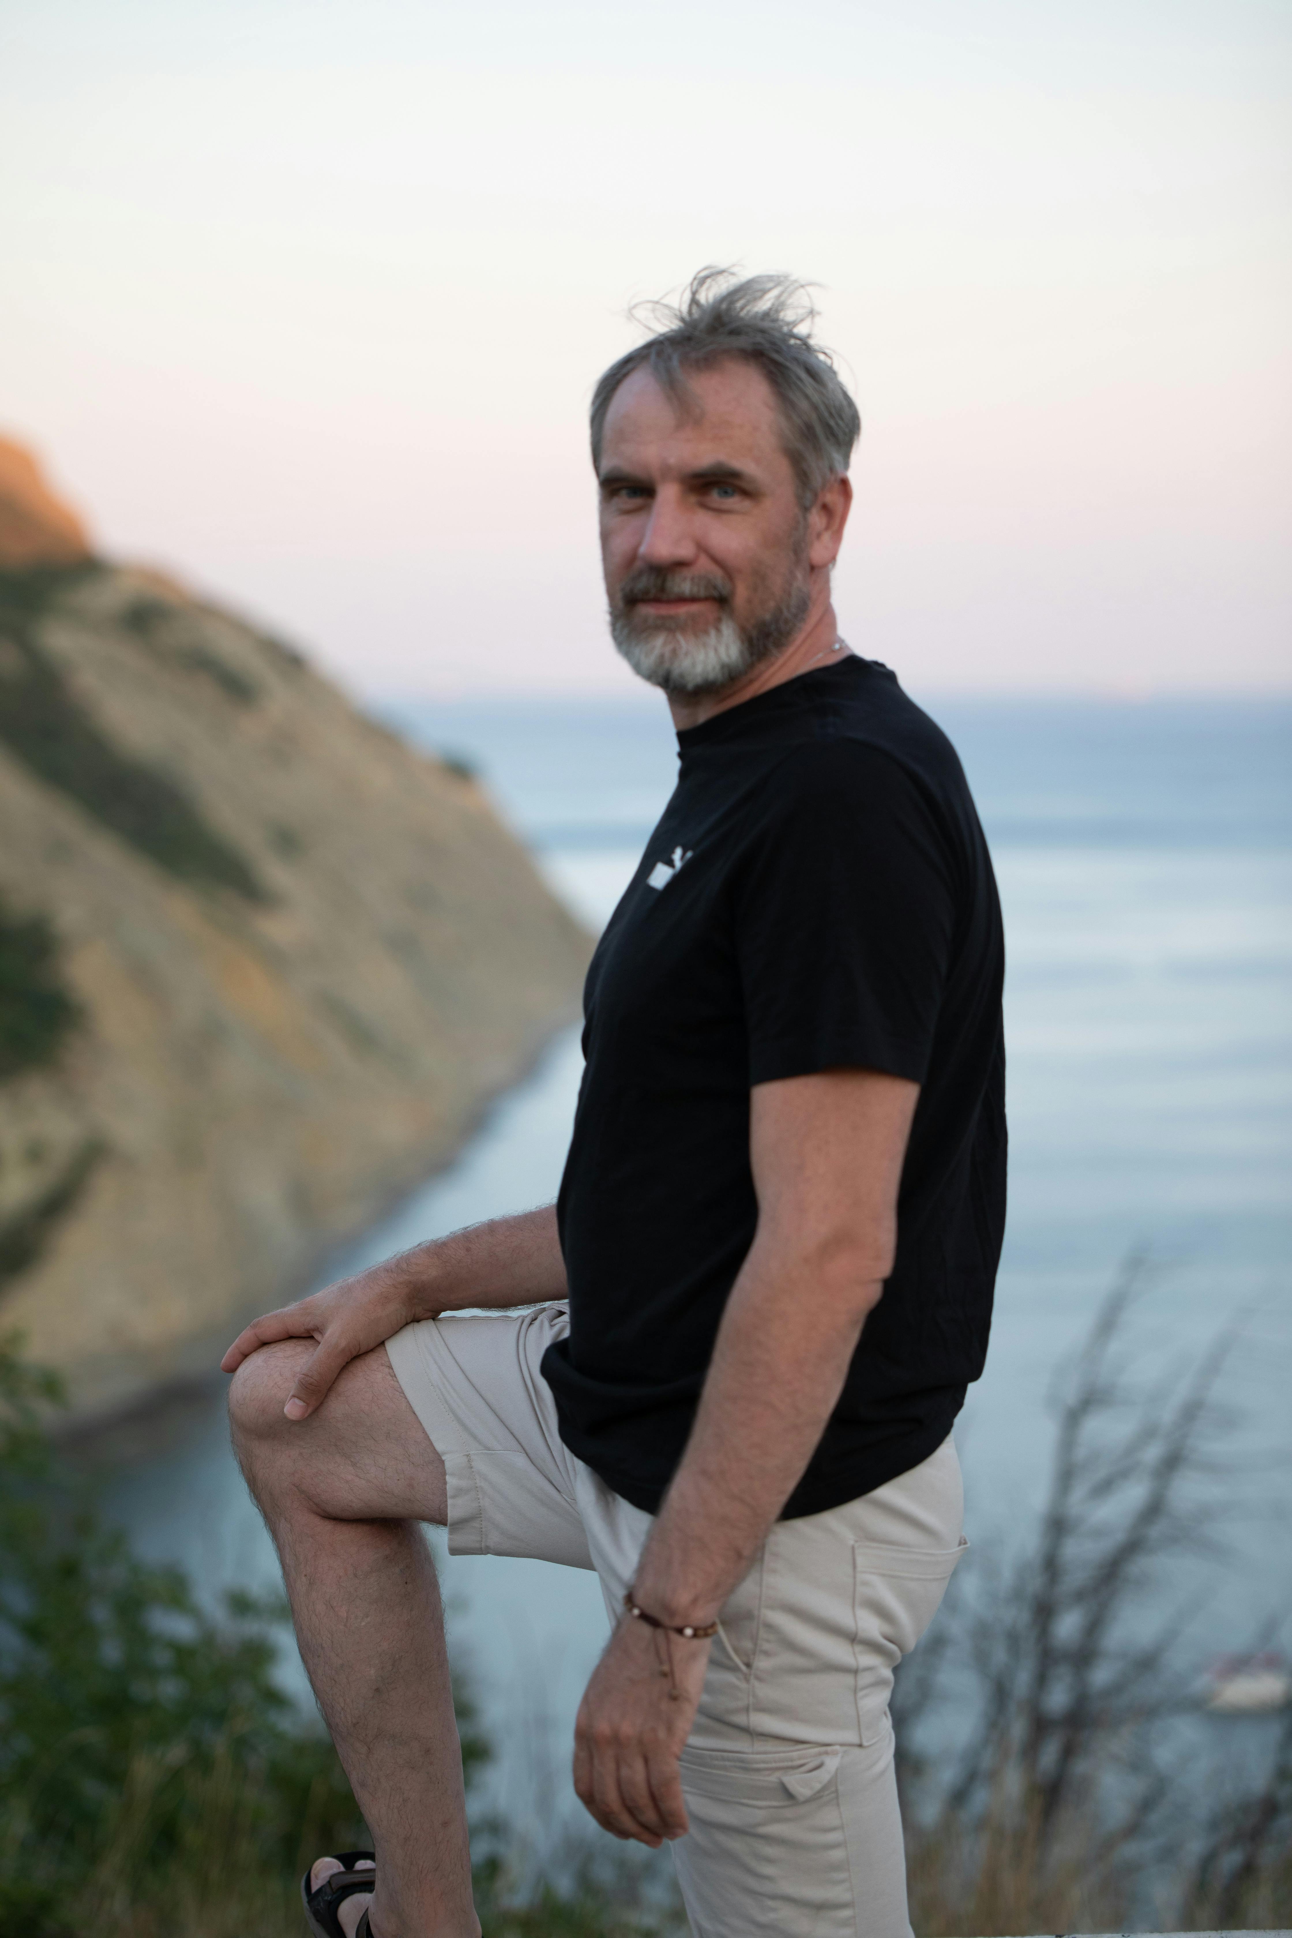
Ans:
[[[668,1624],[713,1622],[808,1465],[893,1269],[897,1188],[918,1087],[868,1070],[754,1091],[757,1233],[732,1287],[682,1465],[637,1568]],[[686,1831],[678,1754],[709,1645],[674,1643],[684,1702],[661,1696],[655,1638],[620,1622],[575,1731],[575,1789],[620,1837]]]

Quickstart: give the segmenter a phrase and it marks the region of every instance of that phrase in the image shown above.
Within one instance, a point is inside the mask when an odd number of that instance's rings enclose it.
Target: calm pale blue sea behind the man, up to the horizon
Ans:
[[[969,773],[1009,955],[1009,1227],[988,1368],[957,1426],[965,1568],[1036,1525],[1056,1399],[1129,1264],[1141,1291],[1116,1349],[1129,1391],[1224,1343],[1197,1552],[1147,1579],[1147,1614],[1189,1599],[1182,1647],[1199,1674],[1257,1640],[1292,1649],[1292,700],[916,698]],[[378,711],[478,773],[556,893],[600,928],[674,785],[655,696]],[[320,1283],[550,1200],[579,1070],[569,1029]],[[217,1376],[79,1452],[136,1545],[205,1595],[277,1581]],[[451,1653],[498,1750],[488,1808],[542,1841],[577,1810],[573,1713],[606,1636],[595,1578],[436,1548]],[[283,1676],[304,1690],[289,1647]]]

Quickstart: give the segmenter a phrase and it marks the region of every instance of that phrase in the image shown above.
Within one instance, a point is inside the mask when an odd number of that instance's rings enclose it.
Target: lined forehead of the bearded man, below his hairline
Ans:
[[[705,463],[784,477],[784,432],[777,393],[744,357],[684,372],[688,397],[670,397],[647,368],[624,378],[600,440],[600,469],[686,471]]]

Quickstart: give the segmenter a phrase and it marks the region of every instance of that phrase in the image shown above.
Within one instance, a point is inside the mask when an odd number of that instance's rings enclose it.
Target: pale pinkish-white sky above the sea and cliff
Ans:
[[[1286,0],[0,0],[0,434],[353,692],[628,692],[631,302],[817,285],[845,638],[1292,688]]]

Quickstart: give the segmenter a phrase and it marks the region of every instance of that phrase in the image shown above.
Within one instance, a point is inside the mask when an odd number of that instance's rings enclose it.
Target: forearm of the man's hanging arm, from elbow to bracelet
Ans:
[[[637,1568],[637,1599],[661,1620],[717,1618],[812,1459],[881,1291],[846,1260],[750,1250]]]

